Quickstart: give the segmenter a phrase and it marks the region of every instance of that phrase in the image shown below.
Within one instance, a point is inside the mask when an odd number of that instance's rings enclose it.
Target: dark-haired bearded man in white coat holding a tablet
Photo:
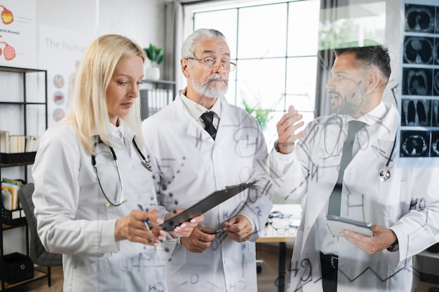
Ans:
[[[400,117],[382,101],[391,74],[388,50],[356,46],[336,49],[335,55],[326,85],[332,115],[299,131],[302,115],[290,106],[276,125],[278,141],[270,154],[281,193],[306,197],[288,291],[409,292],[412,256],[439,241],[438,169],[396,165]],[[344,168],[351,120],[364,126]],[[337,179],[339,169],[344,175]],[[341,197],[332,205],[337,185]],[[332,206],[337,216],[372,223],[372,236],[352,230],[332,235],[326,216]]]

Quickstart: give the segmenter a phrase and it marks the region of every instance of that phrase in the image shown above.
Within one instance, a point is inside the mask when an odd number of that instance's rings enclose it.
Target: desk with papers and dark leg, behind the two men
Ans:
[[[284,218],[276,217],[276,215],[283,214]],[[299,226],[302,218],[302,207],[300,204],[273,204],[271,208],[271,215],[269,217],[271,222],[262,230],[259,239],[256,242],[278,242],[279,243],[279,261],[278,261],[278,292],[285,291],[285,254],[287,249],[287,242],[296,241],[296,228],[289,228],[284,235],[279,235],[275,228],[283,228],[284,226]],[[285,218],[286,217],[286,218]]]

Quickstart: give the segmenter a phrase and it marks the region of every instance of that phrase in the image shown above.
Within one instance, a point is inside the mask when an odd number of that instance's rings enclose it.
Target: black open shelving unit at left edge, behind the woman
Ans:
[[[41,137],[48,127],[47,71],[0,66],[0,80],[0,130],[7,131],[9,134],[32,134]],[[8,177],[28,181],[28,172],[30,172],[36,153],[4,152],[6,149],[0,146],[0,179]],[[21,280],[19,273],[15,273],[14,279],[8,281],[6,272],[11,266],[6,265],[6,259],[11,255],[15,256],[16,252],[5,254],[5,238],[10,232],[24,232],[25,253],[29,256],[29,228],[24,211],[20,207],[17,210],[5,209],[3,200],[1,200],[0,210],[0,291],[48,278],[47,273],[35,270],[32,264],[31,270],[33,270],[34,277]],[[20,246],[20,244],[17,245]],[[18,249],[15,244],[8,247]]]

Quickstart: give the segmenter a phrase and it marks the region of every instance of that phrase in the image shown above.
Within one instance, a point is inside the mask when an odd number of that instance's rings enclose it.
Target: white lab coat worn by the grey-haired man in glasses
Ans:
[[[206,212],[201,222],[217,230],[243,212],[258,232],[241,243],[219,235],[203,253],[191,253],[174,241],[166,263],[170,291],[257,291],[255,240],[272,206],[271,193],[262,192],[268,153],[255,118],[224,97],[217,102],[222,110],[215,141],[189,115],[180,96],[142,123],[151,160],[160,170],[155,183],[158,200],[169,210],[188,208],[215,190],[259,179],[258,192],[252,191],[250,199],[247,191],[236,195]]]

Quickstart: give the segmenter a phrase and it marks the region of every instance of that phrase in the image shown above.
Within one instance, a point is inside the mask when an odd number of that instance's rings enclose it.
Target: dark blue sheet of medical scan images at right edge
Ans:
[[[439,3],[405,0],[402,6],[400,159],[409,165],[436,165],[439,160]]]

